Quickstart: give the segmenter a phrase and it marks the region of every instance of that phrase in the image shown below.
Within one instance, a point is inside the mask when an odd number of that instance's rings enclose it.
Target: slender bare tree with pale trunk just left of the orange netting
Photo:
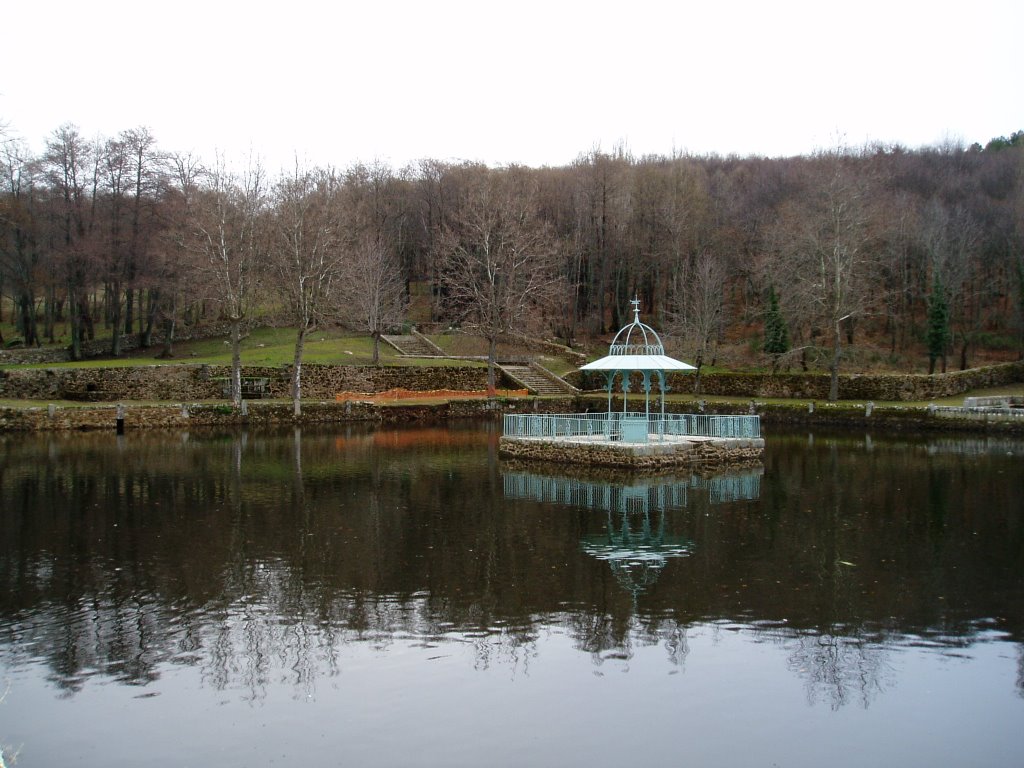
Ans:
[[[304,171],[274,187],[273,249],[281,289],[298,326],[292,366],[292,402],[302,413],[302,356],[306,336],[333,308],[342,266],[338,180],[330,171]]]

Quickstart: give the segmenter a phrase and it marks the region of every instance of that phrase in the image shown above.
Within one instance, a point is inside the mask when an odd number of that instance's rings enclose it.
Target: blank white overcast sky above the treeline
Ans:
[[[788,156],[1024,129],[1021,0],[77,0],[0,13],[0,121],[270,170]]]

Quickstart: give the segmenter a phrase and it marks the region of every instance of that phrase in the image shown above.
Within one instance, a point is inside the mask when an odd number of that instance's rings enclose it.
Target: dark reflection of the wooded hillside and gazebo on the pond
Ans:
[[[257,700],[314,696],[349,644],[523,670],[557,632],[597,668],[654,646],[679,666],[739,633],[843,707],[889,689],[901,649],[1021,641],[1019,442],[775,435],[762,468],[623,481],[505,465],[496,441],[4,439],[0,662],[69,696],[180,667]]]

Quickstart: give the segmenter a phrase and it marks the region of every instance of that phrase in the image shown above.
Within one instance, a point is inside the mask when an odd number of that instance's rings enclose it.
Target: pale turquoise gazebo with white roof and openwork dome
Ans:
[[[640,300],[633,299],[633,323],[626,326],[611,340],[608,354],[599,360],[583,366],[581,371],[595,371],[605,376],[608,392],[608,416],[611,416],[611,393],[615,386],[615,376],[622,377],[623,413],[628,413],[630,375],[634,371],[643,374],[641,387],[644,391],[644,416],[650,418],[650,390],[652,376],[657,377],[660,392],[662,417],[665,417],[665,393],[669,391],[666,371],[695,371],[688,362],[677,360],[665,353],[660,337],[650,326],[640,322]]]

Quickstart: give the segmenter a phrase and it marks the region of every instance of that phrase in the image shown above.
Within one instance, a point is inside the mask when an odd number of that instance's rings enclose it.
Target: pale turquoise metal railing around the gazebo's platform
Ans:
[[[507,437],[591,437],[647,442],[666,436],[760,437],[758,416],[709,414],[506,414]]]

